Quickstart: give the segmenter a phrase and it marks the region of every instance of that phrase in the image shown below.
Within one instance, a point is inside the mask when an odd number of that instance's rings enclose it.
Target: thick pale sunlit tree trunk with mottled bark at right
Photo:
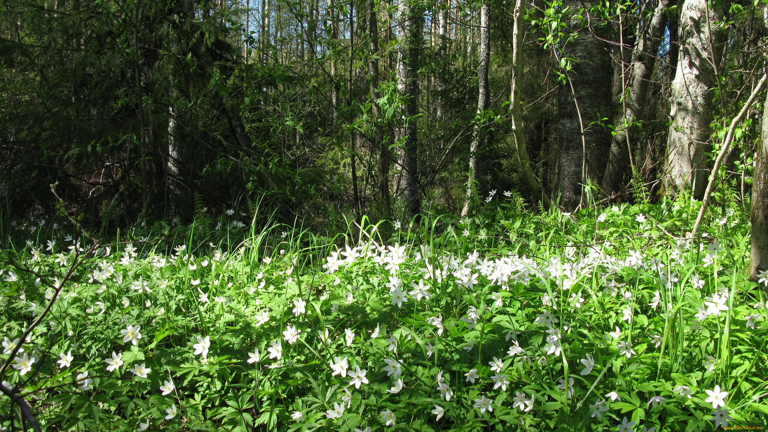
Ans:
[[[707,187],[707,156],[713,115],[711,90],[717,86],[713,61],[720,58],[723,32],[710,31],[713,22],[722,22],[723,12],[707,14],[706,0],[686,0],[680,12],[680,53],[672,81],[667,136],[667,193],[674,196],[686,188],[700,199]],[[714,46],[713,46],[714,44]]]

